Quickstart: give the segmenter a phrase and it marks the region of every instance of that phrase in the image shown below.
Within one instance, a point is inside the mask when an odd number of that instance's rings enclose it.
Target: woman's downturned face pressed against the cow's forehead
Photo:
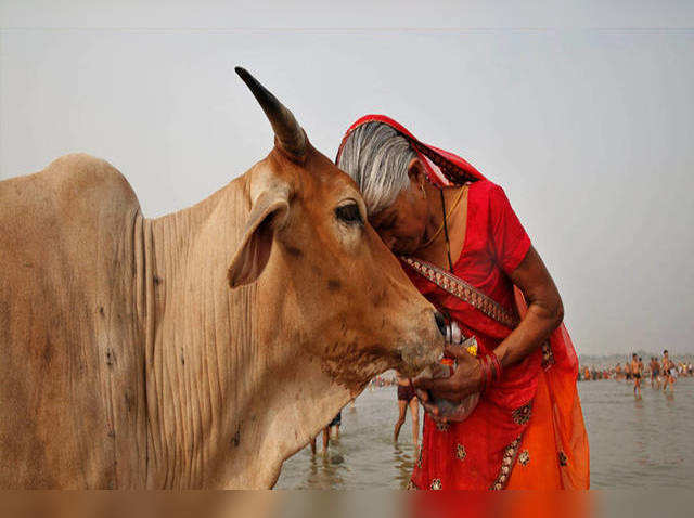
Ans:
[[[400,192],[394,204],[369,219],[397,256],[413,254],[424,242],[429,211],[422,185],[421,176],[411,174],[410,185]]]

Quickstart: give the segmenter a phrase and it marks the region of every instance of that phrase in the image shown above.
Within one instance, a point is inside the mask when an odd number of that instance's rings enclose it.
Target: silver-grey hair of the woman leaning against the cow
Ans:
[[[408,166],[416,153],[390,126],[373,121],[352,131],[343,145],[337,167],[361,191],[368,216],[388,208],[410,184]]]

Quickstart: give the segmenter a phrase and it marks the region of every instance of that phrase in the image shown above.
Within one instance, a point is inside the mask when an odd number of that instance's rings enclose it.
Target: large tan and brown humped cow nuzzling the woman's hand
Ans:
[[[0,487],[270,488],[374,375],[444,322],[356,184],[243,68],[269,155],[145,218],[86,154],[0,182]]]

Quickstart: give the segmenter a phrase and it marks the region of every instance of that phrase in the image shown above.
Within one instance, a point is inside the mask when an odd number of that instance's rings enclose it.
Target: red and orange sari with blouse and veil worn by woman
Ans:
[[[381,121],[406,137],[441,187],[468,183],[464,246],[453,275],[492,299],[500,311],[520,318],[523,296],[511,273],[530,248],[530,238],[503,190],[464,159],[416,140],[385,116],[367,116],[350,127]],[[340,146],[342,150],[342,146]],[[339,152],[338,152],[339,154]],[[512,332],[498,319],[444,290],[403,263],[410,279],[434,306],[491,352]],[[504,311],[505,310],[505,311]],[[588,438],[576,390],[578,362],[564,325],[548,344],[503,371],[462,423],[437,425],[428,415],[411,485],[417,489],[587,489]]]

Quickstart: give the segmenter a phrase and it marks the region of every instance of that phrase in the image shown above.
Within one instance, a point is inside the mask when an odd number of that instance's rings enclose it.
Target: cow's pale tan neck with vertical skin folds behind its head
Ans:
[[[149,487],[272,484],[282,461],[355,396],[278,325],[292,311],[284,261],[229,288],[248,209],[232,182],[145,221]]]

